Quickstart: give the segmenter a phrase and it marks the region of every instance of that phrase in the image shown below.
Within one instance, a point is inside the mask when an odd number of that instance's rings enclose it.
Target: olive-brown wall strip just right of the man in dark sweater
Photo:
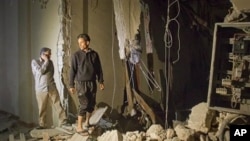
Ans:
[[[119,47],[112,0],[88,1],[87,31],[90,47],[99,53],[103,73],[104,91],[97,91],[97,103],[119,109],[124,94],[124,67],[119,58]]]

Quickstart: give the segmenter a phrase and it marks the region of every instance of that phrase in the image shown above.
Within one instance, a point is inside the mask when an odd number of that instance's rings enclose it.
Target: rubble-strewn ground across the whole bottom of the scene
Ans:
[[[187,120],[173,121],[167,129],[160,124],[145,129],[137,118],[120,115],[116,121],[104,116],[91,134],[79,134],[74,130],[75,123],[37,130],[15,116],[0,112],[0,141],[218,141],[219,138],[229,141],[229,132],[224,129],[225,132],[220,132],[219,127],[230,117],[243,116],[219,113],[209,110],[207,103],[199,103],[191,109]]]

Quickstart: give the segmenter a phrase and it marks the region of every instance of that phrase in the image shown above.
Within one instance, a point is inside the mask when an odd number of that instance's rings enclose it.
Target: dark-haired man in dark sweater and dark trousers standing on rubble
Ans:
[[[99,55],[89,48],[90,37],[88,34],[77,36],[79,50],[72,56],[70,69],[70,92],[77,93],[79,99],[79,113],[77,132],[83,132],[83,116],[86,114],[85,126],[89,126],[89,118],[96,104],[98,80],[100,90],[104,89],[103,72]],[[76,83],[75,83],[76,82]]]

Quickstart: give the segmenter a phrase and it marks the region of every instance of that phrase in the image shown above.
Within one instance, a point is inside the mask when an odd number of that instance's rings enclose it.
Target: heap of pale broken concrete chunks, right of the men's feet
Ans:
[[[164,129],[160,124],[153,124],[145,132],[129,131],[122,134],[122,138],[117,130],[106,131],[98,141],[111,141],[113,137],[114,141],[218,141],[216,130],[211,126],[216,124],[215,114],[208,110],[206,103],[200,103],[192,108],[186,122],[174,121],[173,128]]]

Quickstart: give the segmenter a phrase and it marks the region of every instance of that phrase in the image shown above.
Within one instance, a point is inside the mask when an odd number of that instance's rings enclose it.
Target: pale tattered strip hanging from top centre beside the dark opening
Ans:
[[[113,0],[120,59],[125,59],[125,46],[132,44],[140,25],[140,0]]]

